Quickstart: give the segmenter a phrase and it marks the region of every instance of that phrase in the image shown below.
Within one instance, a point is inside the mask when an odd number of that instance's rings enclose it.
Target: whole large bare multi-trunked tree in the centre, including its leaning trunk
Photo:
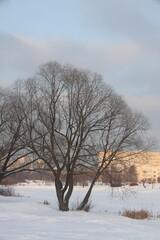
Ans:
[[[23,94],[28,106],[23,107],[27,146],[52,172],[62,211],[69,210],[77,171],[94,172],[79,207],[83,209],[95,181],[115,161],[116,153],[142,146],[140,133],[148,127],[145,118],[132,112],[97,73],[50,62],[25,81]],[[104,152],[100,164],[99,151]],[[106,158],[107,153],[111,154]]]

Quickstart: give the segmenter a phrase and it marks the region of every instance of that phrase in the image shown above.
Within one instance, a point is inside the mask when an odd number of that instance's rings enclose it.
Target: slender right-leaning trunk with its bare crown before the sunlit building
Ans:
[[[80,210],[88,203],[95,182],[107,169],[117,169],[117,177],[118,175],[120,177],[128,165],[127,162],[132,162],[139,155],[143,155],[153,143],[145,135],[149,128],[147,119],[141,113],[133,112],[121,97],[110,96],[106,107],[108,116],[102,124],[103,128],[97,132],[97,138],[94,138],[95,147],[92,149],[95,155],[100,154],[99,164],[93,166],[95,175],[78,207]],[[88,157],[90,155],[89,152]],[[88,163],[90,164],[89,161]],[[110,178],[113,179],[113,176],[110,175]]]

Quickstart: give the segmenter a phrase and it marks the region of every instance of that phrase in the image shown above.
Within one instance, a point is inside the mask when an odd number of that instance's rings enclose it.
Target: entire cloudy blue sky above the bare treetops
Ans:
[[[160,151],[160,0],[0,0],[0,85],[48,61],[101,74]]]

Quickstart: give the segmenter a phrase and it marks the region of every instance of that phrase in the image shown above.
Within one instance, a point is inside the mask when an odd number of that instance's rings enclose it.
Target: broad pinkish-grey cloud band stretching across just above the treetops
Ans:
[[[0,82],[33,76],[38,66],[51,60],[89,68],[104,76],[130,106],[142,111],[158,135],[160,122],[160,56],[134,41],[93,41],[86,45],[70,39],[38,42],[20,35],[0,34]],[[157,94],[157,95],[156,95]]]

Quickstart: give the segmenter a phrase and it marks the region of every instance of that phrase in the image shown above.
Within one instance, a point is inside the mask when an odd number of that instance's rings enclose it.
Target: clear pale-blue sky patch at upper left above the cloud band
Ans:
[[[3,4],[0,28],[37,40],[54,35],[73,36],[80,15],[73,3],[66,0],[8,0]]]

